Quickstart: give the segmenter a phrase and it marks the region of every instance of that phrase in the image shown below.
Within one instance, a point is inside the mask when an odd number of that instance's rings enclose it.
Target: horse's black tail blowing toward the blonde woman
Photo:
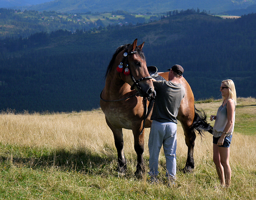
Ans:
[[[194,107],[194,119],[192,123],[192,130],[196,130],[199,135],[204,135],[203,131],[208,131],[213,134],[213,127],[207,122],[204,111],[199,111]]]

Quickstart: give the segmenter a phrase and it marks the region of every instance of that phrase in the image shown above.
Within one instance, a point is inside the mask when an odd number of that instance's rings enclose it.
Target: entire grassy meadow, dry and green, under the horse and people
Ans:
[[[221,100],[196,103],[207,119]],[[210,122],[210,120],[209,120]],[[214,122],[210,122],[212,125]],[[144,160],[148,171],[148,136]],[[0,114],[1,200],[255,200],[256,99],[239,98],[230,146],[231,186],[220,186],[212,159],[212,135],[197,137],[195,169],[184,174],[187,146],[178,124],[177,181],[165,183],[165,158],[160,152],[160,184],[134,176],[133,136],[124,130],[128,172],[116,172],[117,153],[112,132],[101,110],[79,113]]]

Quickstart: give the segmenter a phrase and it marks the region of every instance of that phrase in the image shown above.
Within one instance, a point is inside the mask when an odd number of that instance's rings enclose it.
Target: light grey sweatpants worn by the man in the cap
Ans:
[[[177,148],[177,124],[173,122],[161,123],[152,121],[149,134],[149,175],[156,176],[161,146],[163,145],[166,159],[166,176],[175,178],[176,175],[176,148]]]

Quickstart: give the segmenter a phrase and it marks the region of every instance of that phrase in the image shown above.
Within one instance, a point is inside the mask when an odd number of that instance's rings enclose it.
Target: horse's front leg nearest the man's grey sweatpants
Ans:
[[[137,153],[137,166],[135,171],[135,176],[142,178],[143,173],[145,172],[145,166],[143,161],[143,152],[144,152],[144,130],[140,135],[141,129],[132,130],[134,137],[134,149]]]

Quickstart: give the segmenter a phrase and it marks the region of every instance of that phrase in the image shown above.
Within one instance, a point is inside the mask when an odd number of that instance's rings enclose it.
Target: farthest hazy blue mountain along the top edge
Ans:
[[[53,0],[26,9],[67,13],[112,12],[165,13],[170,10],[197,9],[220,13],[226,10],[247,8],[256,0]]]

